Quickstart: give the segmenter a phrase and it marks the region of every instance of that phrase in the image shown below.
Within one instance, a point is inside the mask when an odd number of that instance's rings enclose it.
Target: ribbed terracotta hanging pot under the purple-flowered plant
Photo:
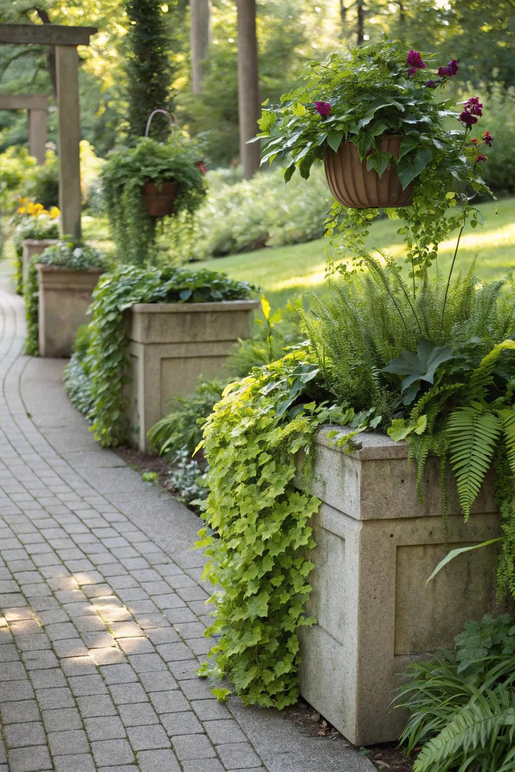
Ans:
[[[385,134],[377,140],[378,149],[398,157],[401,139]],[[412,204],[412,186],[402,190],[395,164],[388,164],[381,177],[374,169],[367,171],[367,159],[360,161],[352,142],[342,142],[336,152],[328,147],[324,166],[330,191],[344,206],[374,209]]]

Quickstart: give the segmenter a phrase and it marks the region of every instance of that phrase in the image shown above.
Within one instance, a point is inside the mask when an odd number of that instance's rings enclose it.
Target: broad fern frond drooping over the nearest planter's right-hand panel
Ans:
[[[476,408],[458,408],[449,415],[446,436],[450,462],[466,520],[490,468],[500,433],[499,419],[493,413]]]

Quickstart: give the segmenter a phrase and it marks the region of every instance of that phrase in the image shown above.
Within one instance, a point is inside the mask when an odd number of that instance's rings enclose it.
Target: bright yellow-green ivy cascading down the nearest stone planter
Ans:
[[[344,421],[341,408],[320,399],[318,380],[313,355],[300,347],[229,384],[205,425],[208,529],[197,546],[216,587],[206,634],[219,638],[214,662],[199,672],[229,675],[245,704],[281,709],[299,693],[296,630],[315,621],[303,610],[313,568],[304,553],[320,501],[293,485],[296,453],[309,463],[317,428]]]

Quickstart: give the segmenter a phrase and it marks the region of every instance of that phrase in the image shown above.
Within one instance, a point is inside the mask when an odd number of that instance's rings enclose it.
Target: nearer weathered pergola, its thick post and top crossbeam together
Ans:
[[[55,46],[59,129],[61,232],[80,239],[80,113],[77,46],[89,46],[94,27],[0,24],[0,44]],[[5,97],[3,97],[5,99]],[[1,103],[0,103],[1,105]]]

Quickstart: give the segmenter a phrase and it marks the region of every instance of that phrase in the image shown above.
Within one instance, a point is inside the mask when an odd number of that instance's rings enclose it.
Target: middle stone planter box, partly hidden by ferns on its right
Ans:
[[[191,394],[199,375],[219,374],[239,338],[249,337],[255,300],[224,303],[136,303],[127,311],[132,442],[151,452],[148,430],[174,397]]]

